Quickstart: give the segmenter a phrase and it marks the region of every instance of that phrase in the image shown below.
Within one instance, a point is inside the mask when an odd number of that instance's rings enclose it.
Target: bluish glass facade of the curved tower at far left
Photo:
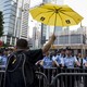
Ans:
[[[16,2],[12,0],[3,0],[4,32],[8,32],[5,34],[10,36],[14,36],[16,5],[17,5]]]

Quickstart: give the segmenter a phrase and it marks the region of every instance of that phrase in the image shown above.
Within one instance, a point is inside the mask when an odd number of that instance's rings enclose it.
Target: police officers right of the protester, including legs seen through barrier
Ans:
[[[78,53],[77,57],[72,55],[72,49],[70,47],[66,47],[66,49],[61,49],[59,54],[54,52],[52,58],[50,58],[49,52],[47,52],[44,60],[40,61],[40,64],[45,69],[48,69],[48,67],[50,69],[52,66],[58,66],[58,67],[61,66],[61,67],[67,67],[67,69],[74,69],[75,66],[78,66],[78,67],[83,66],[85,69],[87,66],[87,58],[82,59],[80,53]],[[61,73],[60,70],[59,70],[59,73]],[[66,71],[66,73],[70,73],[70,71]],[[71,76],[72,85],[71,85],[70,76],[67,76],[66,79],[67,80],[65,80],[65,77],[63,77],[64,85],[66,84],[65,87],[74,87],[74,77]],[[85,76],[85,80],[84,80],[85,87],[87,87],[86,79],[87,77]],[[60,83],[62,82],[60,80]],[[61,84],[60,84],[60,87],[62,87]]]

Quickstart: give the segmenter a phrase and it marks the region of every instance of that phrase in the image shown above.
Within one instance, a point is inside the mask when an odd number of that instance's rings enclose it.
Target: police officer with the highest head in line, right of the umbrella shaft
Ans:
[[[76,57],[72,55],[72,49],[66,47],[65,58],[63,60],[64,66],[67,67],[66,73],[73,73],[74,71],[70,69],[74,69],[74,64],[80,66],[80,63],[76,60]],[[66,82],[67,79],[67,82]],[[74,87],[74,76],[64,77],[65,87]]]

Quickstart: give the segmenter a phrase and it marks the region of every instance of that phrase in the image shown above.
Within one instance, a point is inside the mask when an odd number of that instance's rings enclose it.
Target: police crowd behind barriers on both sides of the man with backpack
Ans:
[[[13,49],[0,49],[0,65],[7,65],[8,57],[13,52]],[[54,51],[47,51],[44,59],[36,62],[36,65],[41,65],[45,69],[49,67],[87,67],[87,54],[83,58],[78,52],[73,55],[72,49],[59,49]]]

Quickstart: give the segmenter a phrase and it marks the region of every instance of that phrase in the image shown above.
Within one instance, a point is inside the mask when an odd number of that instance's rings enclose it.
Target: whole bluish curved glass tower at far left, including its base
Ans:
[[[14,0],[1,0],[0,11],[3,13],[3,36],[1,40],[7,45],[14,45],[16,29],[16,12],[17,12],[17,1]]]

